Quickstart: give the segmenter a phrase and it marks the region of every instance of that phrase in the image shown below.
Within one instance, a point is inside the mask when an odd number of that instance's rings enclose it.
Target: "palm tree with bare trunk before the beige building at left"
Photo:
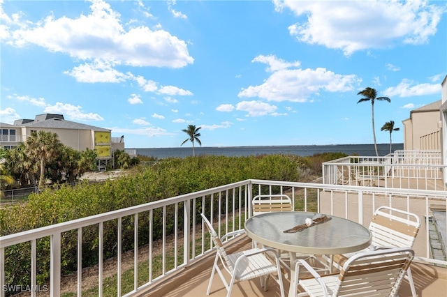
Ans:
[[[61,148],[61,142],[57,139],[57,134],[48,131],[38,131],[32,133],[25,143],[25,151],[29,155],[36,156],[41,174],[39,174],[38,188],[43,188],[45,183],[45,165],[56,155]]]

